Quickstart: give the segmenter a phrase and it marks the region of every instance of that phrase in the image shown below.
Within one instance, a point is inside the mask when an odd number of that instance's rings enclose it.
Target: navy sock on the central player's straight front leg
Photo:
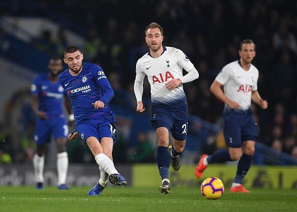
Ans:
[[[169,154],[168,154],[168,148],[167,147],[159,147],[157,148],[157,166],[159,169],[160,176],[163,179],[168,179],[168,170],[169,170]]]

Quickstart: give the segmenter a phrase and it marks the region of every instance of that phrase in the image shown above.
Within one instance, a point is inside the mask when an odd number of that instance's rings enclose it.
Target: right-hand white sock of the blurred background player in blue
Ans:
[[[58,173],[58,185],[66,184],[68,170],[68,154],[61,152],[56,154],[56,167]]]

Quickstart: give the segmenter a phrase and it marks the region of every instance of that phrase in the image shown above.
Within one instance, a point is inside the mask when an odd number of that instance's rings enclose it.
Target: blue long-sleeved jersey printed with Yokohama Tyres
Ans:
[[[113,112],[103,97],[106,89],[112,90],[112,88],[102,68],[92,63],[83,62],[82,64],[82,70],[77,76],[72,76],[66,69],[58,77],[70,100],[75,125],[84,119],[100,119],[102,117],[107,117],[111,122],[115,122]],[[97,100],[104,102],[104,108],[94,109],[92,103]]]

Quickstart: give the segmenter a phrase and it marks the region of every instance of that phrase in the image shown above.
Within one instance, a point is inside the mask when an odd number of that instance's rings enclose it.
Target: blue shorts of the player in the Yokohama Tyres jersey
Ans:
[[[116,142],[115,124],[107,119],[84,119],[77,124],[76,129],[83,142],[91,136],[99,142],[105,137],[112,138],[113,144]]]

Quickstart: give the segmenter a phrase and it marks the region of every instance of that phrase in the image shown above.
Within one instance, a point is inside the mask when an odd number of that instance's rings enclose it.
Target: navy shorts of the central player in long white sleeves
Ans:
[[[180,111],[168,111],[160,107],[151,109],[151,122],[154,130],[159,127],[165,127],[171,131],[175,140],[183,141],[186,138],[187,131],[187,107]]]

